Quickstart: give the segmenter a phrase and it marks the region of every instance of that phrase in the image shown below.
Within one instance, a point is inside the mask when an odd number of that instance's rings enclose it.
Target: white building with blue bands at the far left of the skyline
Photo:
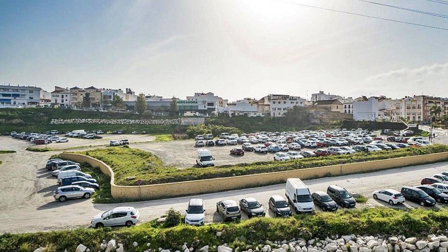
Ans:
[[[0,107],[39,106],[41,96],[41,88],[0,85]]]

